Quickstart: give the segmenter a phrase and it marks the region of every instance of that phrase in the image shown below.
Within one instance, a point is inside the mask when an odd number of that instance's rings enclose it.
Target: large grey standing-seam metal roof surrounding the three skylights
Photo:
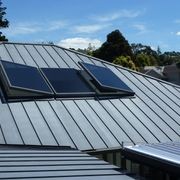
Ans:
[[[2,60],[35,67],[108,67],[134,98],[0,102],[0,143],[67,145],[80,150],[180,140],[180,86],[55,45],[2,43]]]

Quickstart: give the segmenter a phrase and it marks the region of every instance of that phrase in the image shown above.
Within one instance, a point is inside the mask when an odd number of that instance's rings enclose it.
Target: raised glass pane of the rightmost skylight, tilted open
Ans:
[[[110,69],[84,62],[80,62],[80,65],[96,81],[102,90],[124,91],[134,94],[134,92]]]

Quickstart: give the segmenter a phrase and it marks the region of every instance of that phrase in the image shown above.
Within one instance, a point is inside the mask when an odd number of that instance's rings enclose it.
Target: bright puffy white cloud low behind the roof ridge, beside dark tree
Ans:
[[[75,38],[67,38],[61,40],[57,43],[59,46],[66,47],[66,48],[74,48],[74,49],[85,49],[91,43],[92,46],[96,48],[101,46],[101,41],[98,39],[91,39],[91,38],[82,38],[82,37],[75,37]]]

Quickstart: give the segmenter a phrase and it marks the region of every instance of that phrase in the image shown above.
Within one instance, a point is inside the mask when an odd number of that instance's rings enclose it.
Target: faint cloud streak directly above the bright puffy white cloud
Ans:
[[[104,28],[107,28],[108,26],[110,26],[110,24],[80,25],[80,26],[75,26],[74,31],[76,33],[95,33],[97,31],[104,29]]]

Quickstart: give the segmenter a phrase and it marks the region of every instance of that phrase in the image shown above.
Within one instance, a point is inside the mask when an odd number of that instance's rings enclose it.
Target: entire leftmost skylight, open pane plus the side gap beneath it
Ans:
[[[1,61],[1,77],[11,98],[53,94],[36,67]]]

